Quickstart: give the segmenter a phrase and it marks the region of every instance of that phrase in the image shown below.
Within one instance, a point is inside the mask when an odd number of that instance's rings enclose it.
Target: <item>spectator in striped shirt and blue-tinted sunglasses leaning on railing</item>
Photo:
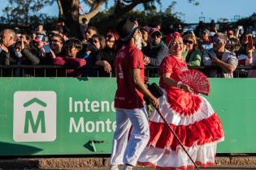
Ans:
[[[232,78],[233,72],[236,70],[238,63],[236,54],[225,49],[227,40],[227,36],[223,33],[216,33],[213,39],[213,48],[203,53],[202,62],[204,66],[219,66],[220,69],[209,70],[208,76],[211,78]]]

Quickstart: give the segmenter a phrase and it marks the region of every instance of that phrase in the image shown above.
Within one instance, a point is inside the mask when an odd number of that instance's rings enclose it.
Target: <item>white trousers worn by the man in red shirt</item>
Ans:
[[[129,130],[132,133],[128,141]],[[116,130],[112,145],[111,165],[136,166],[141,152],[150,139],[150,127],[145,108],[116,108]]]

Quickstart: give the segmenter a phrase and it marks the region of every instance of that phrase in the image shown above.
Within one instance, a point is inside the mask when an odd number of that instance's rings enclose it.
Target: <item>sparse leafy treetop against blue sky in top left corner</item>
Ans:
[[[8,2],[8,6],[3,9],[4,15],[1,20],[16,26],[28,26],[35,20],[38,22],[45,19],[46,15],[39,11],[45,6],[52,5],[54,0],[8,0]]]

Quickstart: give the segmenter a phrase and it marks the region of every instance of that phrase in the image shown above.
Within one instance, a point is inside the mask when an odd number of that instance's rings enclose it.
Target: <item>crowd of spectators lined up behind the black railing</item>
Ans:
[[[184,41],[183,59],[188,66],[210,66],[208,77],[232,78],[237,66],[255,66],[254,36],[252,32],[241,33],[241,26],[227,28],[221,32],[215,28],[201,27],[183,32],[181,25],[171,33],[163,35],[161,27],[141,26],[137,45],[144,54],[145,66],[158,66],[169,53],[169,42],[173,32],[180,32]],[[43,25],[30,34],[4,29],[0,36],[0,65],[50,65],[67,66],[66,76],[115,76],[115,56],[122,42],[117,30],[106,30],[106,34],[89,26],[86,19],[80,23],[80,37],[68,36],[63,29],[44,30]],[[97,68],[95,71],[93,68]],[[13,71],[13,70],[12,70]],[[33,70],[15,69],[13,76],[33,76]],[[8,76],[8,71],[2,73]],[[245,71],[245,76],[256,77],[256,71]]]

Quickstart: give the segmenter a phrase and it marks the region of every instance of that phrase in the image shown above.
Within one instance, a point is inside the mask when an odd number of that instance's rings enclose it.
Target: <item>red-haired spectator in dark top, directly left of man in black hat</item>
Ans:
[[[117,54],[117,41],[119,40],[119,34],[114,30],[106,33],[106,48],[99,51],[96,56],[95,65],[102,66],[103,70],[100,70],[99,76],[109,76],[115,74],[115,57]]]

